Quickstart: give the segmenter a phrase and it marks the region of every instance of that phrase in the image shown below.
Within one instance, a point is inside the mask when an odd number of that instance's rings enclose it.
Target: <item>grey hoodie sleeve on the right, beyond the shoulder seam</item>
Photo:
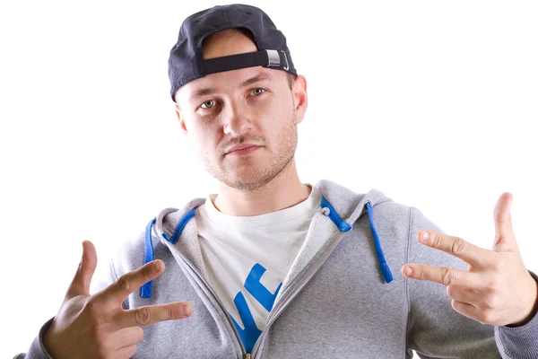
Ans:
[[[469,269],[462,259],[421,244],[417,233],[423,229],[443,232],[420,210],[411,207],[407,263]],[[521,327],[485,325],[455,311],[445,285],[408,278],[405,281],[409,301],[407,349],[415,350],[421,358],[538,358],[538,314]]]

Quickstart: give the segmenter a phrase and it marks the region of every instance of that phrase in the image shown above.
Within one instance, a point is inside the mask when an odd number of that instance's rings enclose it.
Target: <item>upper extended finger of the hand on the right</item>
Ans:
[[[428,233],[424,238],[424,234]],[[473,267],[490,267],[497,260],[491,250],[484,250],[459,237],[435,231],[421,231],[418,233],[419,241],[431,248],[442,250],[457,258],[463,259]]]

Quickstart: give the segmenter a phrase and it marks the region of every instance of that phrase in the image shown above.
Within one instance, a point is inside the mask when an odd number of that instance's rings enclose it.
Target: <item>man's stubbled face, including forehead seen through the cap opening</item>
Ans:
[[[239,31],[221,31],[204,44],[204,58],[253,51],[255,43]],[[253,190],[292,163],[307,95],[303,76],[293,89],[287,76],[249,67],[209,74],[176,92],[181,127],[215,179]],[[232,151],[237,146],[251,147]]]

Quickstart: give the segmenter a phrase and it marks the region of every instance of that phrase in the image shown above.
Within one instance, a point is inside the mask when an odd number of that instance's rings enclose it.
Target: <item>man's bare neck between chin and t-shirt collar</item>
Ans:
[[[310,189],[299,180],[295,159],[270,182],[255,190],[241,190],[220,184],[213,205],[225,215],[265,215],[306,200]]]

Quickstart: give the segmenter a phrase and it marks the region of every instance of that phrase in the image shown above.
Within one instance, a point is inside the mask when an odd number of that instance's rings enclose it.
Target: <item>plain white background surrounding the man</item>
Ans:
[[[102,264],[162,208],[214,192],[167,74],[181,22],[213,4],[0,5],[1,357],[27,351],[56,314],[83,240]],[[377,188],[487,249],[509,191],[538,272],[534,1],[250,4],[308,80],[301,180]]]

